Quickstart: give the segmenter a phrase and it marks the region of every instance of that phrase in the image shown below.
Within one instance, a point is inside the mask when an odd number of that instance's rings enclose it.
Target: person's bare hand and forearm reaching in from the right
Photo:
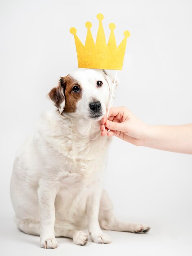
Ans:
[[[100,130],[101,136],[116,136],[136,146],[192,154],[192,124],[148,125],[126,107],[117,107],[109,110],[108,119],[103,117]]]

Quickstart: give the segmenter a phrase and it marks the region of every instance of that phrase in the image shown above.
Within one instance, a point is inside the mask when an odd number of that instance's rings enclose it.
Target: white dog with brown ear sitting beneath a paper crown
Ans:
[[[42,115],[38,129],[20,149],[11,177],[15,221],[40,246],[56,248],[56,236],[85,245],[110,243],[101,229],[145,233],[150,227],[114,216],[102,188],[109,137],[101,137],[112,79],[105,70],[78,70],[49,92],[56,109]]]

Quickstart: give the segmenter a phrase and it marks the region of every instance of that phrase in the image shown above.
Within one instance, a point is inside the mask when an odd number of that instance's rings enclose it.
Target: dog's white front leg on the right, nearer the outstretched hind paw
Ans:
[[[100,197],[102,186],[98,185],[94,188],[87,200],[87,216],[89,235],[94,243],[111,243],[111,238],[100,229],[98,222],[98,213],[100,205]]]

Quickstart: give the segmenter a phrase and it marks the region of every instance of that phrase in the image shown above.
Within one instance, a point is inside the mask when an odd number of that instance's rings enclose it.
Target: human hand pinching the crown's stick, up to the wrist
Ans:
[[[103,117],[100,130],[102,131],[101,136],[116,136],[140,146],[143,140],[147,139],[149,126],[135,117],[126,107],[117,107],[109,110],[108,120],[106,115]]]

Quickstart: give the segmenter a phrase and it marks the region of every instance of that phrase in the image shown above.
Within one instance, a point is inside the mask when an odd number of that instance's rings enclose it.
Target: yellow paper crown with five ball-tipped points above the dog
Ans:
[[[115,24],[110,23],[109,29],[111,29],[111,33],[107,44],[102,24],[104,16],[103,14],[98,13],[97,18],[99,20],[99,27],[96,43],[94,43],[91,33],[91,22],[87,21],[85,23],[85,27],[87,27],[85,46],[83,45],[83,43],[81,43],[80,39],[76,35],[77,29],[74,27],[71,27],[70,29],[70,33],[73,34],[75,38],[78,67],[122,70],[127,37],[130,36],[130,33],[127,30],[124,32],[125,37],[123,38],[120,45],[117,47],[114,35]]]

